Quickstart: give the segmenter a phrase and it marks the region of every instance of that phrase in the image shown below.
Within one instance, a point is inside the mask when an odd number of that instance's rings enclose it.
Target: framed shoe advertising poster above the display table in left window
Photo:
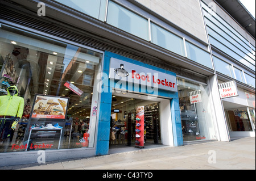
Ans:
[[[69,98],[35,95],[31,118],[65,119]]]

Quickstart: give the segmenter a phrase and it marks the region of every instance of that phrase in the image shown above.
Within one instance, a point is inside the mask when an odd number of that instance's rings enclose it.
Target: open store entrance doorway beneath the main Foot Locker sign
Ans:
[[[137,108],[144,111],[144,146],[162,145],[160,125],[160,99],[148,99],[146,95],[115,93],[112,98],[112,132],[110,149],[135,146],[137,130]]]

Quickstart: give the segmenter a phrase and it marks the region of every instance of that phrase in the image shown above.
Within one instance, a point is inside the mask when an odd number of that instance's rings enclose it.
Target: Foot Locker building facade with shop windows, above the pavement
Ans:
[[[0,166],[255,136],[255,19],[232,14],[239,1],[0,5]]]

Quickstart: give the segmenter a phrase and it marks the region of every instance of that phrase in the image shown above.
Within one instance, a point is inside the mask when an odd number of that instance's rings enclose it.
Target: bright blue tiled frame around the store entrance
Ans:
[[[109,66],[110,66],[110,58],[117,58],[119,60],[123,60],[126,62],[130,62],[131,64],[136,64],[139,66],[143,66],[144,68],[160,71],[162,73],[174,75],[176,74],[157,68],[152,65],[144,64],[142,62],[132,60],[131,58],[120,56],[119,54],[115,54],[112,52],[105,52],[104,62],[103,62],[103,72],[105,75],[109,75]],[[108,76],[107,76],[108,78]],[[106,77],[105,77],[106,79]],[[108,83],[102,85],[102,89],[108,91],[102,91],[100,93],[100,106],[99,106],[99,117],[98,117],[98,134],[97,134],[97,144],[96,144],[96,155],[106,155],[109,151],[109,138],[110,138],[110,115],[111,115],[111,104],[112,104],[112,88],[115,86],[115,81],[108,79]],[[104,87],[105,86],[105,87]],[[133,90],[126,90],[133,89]],[[123,90],[126,91],[134,91],[134,86],[129,88],[129,86],[124,87]],[[139,87],[139,91],[141,91],[141,86]],[[151,94],[147,92],[147,90],[143,90],[147,94]],[[166,98],[171,98],[171,116],[172,116],[172,129],[174,136],[174,146],[182,146],[183,145],[183,137],[181,131],[181,119],[180,119],[180,109],[179,109],[179,95],[177,92],[171,92],[166,90],[158,90],[159,96],[164,96]]]

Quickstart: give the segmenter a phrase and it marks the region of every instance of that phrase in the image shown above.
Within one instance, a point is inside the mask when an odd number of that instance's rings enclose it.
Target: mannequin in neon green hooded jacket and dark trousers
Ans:
[[[16,86],[7,88],[7,95],[0,96],[0,139],[11,137],[11,125],[22,117],[24,99],[18,96]],[[16,128],[16,126],[15,126]],[[15,129],[14,127],[12,129]]]

